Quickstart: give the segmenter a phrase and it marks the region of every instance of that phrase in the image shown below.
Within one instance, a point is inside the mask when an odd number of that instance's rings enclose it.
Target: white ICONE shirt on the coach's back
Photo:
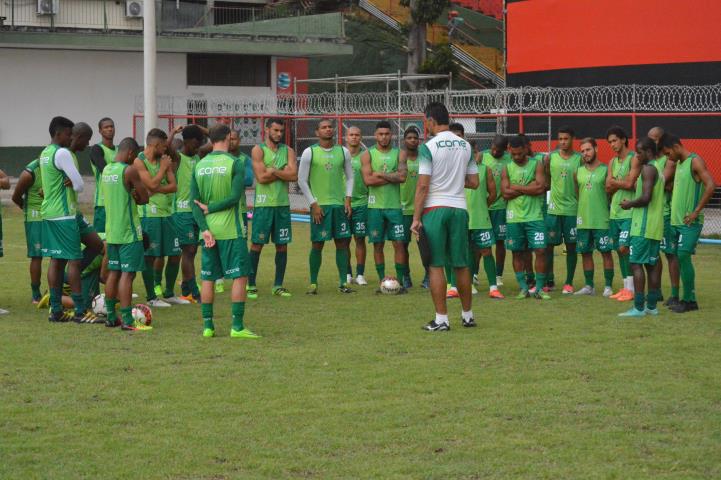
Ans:
[[[470,143],[446,130],[421,145],[418,158],[418,174],[431,176],[424,208],[466,210],[466,175],[478,174]]]

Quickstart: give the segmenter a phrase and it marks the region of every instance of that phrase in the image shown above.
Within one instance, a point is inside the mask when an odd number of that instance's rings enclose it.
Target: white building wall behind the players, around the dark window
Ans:
[[[185,54],[159,53],[158,95],[267,95],[275,86],[274,58],[271,65],[270,88],[188,87]],[[130,136],[135,97],[142,93],[141,52],[0,48],[0,147],[46,144],[55,115],[94,129],[100,118],[111,117],[116,138]]]

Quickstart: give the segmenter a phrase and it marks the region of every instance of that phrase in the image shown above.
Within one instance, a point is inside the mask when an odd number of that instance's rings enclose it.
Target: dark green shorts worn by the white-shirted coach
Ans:
[[[468,212],[436,207],[423,213],[423,231],[431,247],[431,267],[468,266]]]

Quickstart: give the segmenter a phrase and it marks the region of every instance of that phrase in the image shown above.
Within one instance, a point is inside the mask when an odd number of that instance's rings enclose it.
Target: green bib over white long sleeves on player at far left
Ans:
[[[43,184],[43,202],[40,215],[44,220],[56,218],[75,218],[78,212],[78,194],[71,186],[65,186],[68,178],[65,172],[55,165],[58,145],[48,145],[40,154],[40,176]],[[78,160],[72,155],[75,166]]]

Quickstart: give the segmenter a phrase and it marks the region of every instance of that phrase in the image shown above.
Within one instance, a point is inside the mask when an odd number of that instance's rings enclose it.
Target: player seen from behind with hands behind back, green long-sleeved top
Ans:
[[[250,264],[246,228],[241,219],[245,195],[245,166],[228,154],[230,127],[217,123],[210,129],[213,151],[195,165],[191,184],[193,215],[203,236],[200,275],[203,337],[215,336],[213,303],[215,280],[233,280],[231,338],[260,338],[245,328],[246,283]]]

